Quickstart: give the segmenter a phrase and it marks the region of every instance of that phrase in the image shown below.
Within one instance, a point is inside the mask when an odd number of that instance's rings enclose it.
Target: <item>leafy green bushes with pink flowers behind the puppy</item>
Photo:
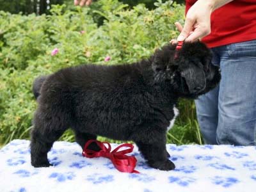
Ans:
[[[29,138],[35,77],[81,63],[131,63],[175,38],[173,23],[184,20],[184,6],[161,0],[155,4],[154,10],[143,4],[129,9],[117,0],[101,0],[90,8],[56,5],[51,15],[0,12],[0,143]],[[59,52],[51,56],[55,48]],[[106,56],[111,60],[105,62]],[[168,142],[200,143],[193,102],[182,100],[180,113]],[[61,139],[74,137],[67,131]]]

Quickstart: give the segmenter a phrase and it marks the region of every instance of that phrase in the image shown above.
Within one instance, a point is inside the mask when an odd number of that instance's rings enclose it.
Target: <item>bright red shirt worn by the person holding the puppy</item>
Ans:
[[[186,0],[186,13],[195,2]],[[255,39],[256,1],[234,0],[212,12],[211,34],[202,41],[208,47],[218,47]]]

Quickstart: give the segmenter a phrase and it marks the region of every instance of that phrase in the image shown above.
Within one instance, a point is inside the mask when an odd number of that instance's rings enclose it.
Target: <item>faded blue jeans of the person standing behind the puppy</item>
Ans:
[[[196,113],[205,143],[256,143],[256,40],[212,48],[220,85],[200,96]]]

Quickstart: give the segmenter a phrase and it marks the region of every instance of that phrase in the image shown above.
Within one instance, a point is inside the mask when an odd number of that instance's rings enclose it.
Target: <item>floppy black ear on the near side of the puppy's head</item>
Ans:
[[[206,78],[202,64],[194,65],[193,63],[189,63],[189,61],[186,62],[189,67],[180,72],[180,77],[183,78],[188,86],[189,93],[198,93],[204,90]]]

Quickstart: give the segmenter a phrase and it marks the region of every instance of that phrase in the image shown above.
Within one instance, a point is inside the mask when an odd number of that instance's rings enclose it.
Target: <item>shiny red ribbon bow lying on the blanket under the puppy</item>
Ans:
[[[88,146],[91,143],[97,143],[97,145],[101,148],[100,151],[94,151],[88,149]],[[106,145],[104,145],[106,143]],[[122,147],[128,147],[125,150],[120,150]],[[130,143],[124,143],[122,145],[119,145],[116,147],[112,152],[111,152],[111,145],[108,142],[100,142],[97,140],[89,140],[87,143],[84,145],[83,149],[83,156],[84,157],[106,157],[112,161],[114,164],[115,168],[120,171],[120,172],[126,172],[126,173],[140,173],[136,170],[134,170],[136,166],[137,159],[134,156],[126,156],[125,154],[131,153],[133,150],[133,145]]]

